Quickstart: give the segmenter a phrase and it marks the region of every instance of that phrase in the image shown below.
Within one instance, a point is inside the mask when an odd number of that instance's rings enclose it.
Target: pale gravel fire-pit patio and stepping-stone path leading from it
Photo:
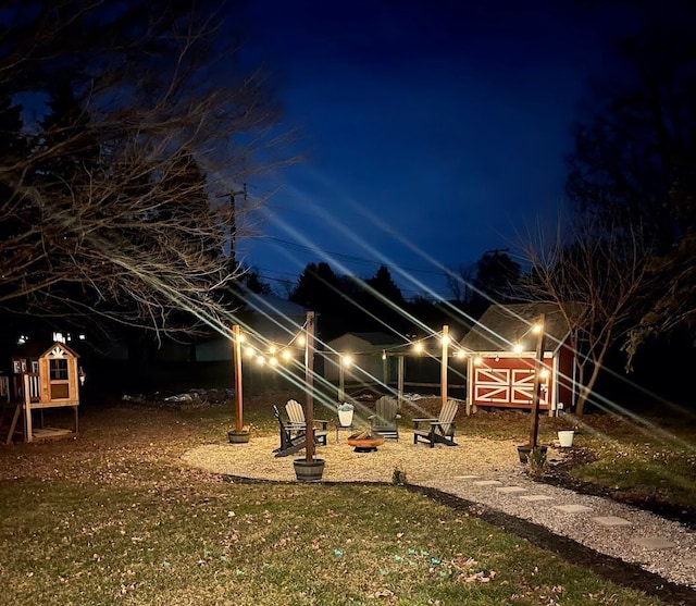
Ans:
[[[580,495],[532,481],[519,462],[515,443],[458,437],[459,447],[413,445],[412,434],[400,432],[399,442],[387,441],[376,453],[355,453],[341,434],[335,444],[320,446],[326,461],[323,480],[331,482],[391,482],[394,469],[406,470],[408,482],[436,488],[470,502],[543,525],[596,552],[639,565],[662,578],[696,588],[696,533],[682,524],[610,499]],[[214,473],[275,481],[295,481],[293,459],[275,458],[277,436],[252,437],[249,444],[199,446],[185,453],[186,465]],[[562,457],[557,450],[549,458]],[[482,484],[481,482],[499,482]],[[506,490],[510,488],[510,490]],[[545,498],[547,497],[547,498]],[[563,506],[582,506],[564,511]],[[594,520],[593,518],[602,518]],[[607,519],[608,518],[608,519]],[[622,520],[621,522],[619,520]],[[616,524],[621,525],[605,525]],[[659,539],[670,546],[641,545]]]

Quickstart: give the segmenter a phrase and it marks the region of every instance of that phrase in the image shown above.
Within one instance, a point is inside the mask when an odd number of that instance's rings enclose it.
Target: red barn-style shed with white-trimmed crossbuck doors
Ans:
[[[554,415],[574,404],[575,351],[560,308],[552,304],[493,305],[461,339],[470,353],[469,406],[530,408],[538,335],[545,314],[544,369],[539,408]]]

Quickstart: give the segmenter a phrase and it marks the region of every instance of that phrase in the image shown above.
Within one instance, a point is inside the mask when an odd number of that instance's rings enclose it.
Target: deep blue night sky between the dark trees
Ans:
[[[249,36],[304,161],[273,183],[243,260],[274,287],[323,260],[365,277],[384,263],[405,296],[449,296],[444,267],[555,221],[587,79],[634,16],[594,2],[252,0]]]

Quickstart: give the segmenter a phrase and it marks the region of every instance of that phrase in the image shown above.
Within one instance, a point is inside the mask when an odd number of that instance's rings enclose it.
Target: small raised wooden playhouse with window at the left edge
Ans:
[[[12,354],[9,392],[0,412],[5,444],[15,434],[25,442],[76,435],[79,406],[77,354],[64,343],[20,345]],[[45,426],[44,411],[71,408],[72,429]],[[7,433],[5,433],[7,432]]]

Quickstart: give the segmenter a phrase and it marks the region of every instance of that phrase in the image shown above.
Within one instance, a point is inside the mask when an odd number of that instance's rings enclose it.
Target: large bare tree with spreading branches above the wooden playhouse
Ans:
[[[262,74],[223,46],[226,3],[8,4],[0,113],[24,107],[21,145],[0,150],[0,307],[215,325],[254,206],[235,193],[279,143]]]

